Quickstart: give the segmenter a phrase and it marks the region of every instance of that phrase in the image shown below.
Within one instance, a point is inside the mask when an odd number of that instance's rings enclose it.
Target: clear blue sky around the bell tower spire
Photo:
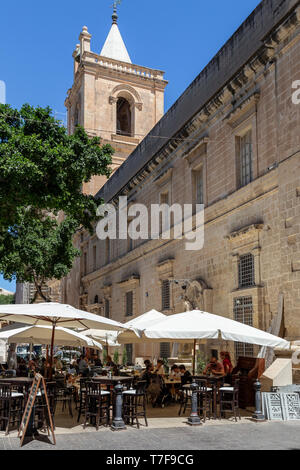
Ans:
[[[0,80],[7,102],[49,105],[63,118],[72,52],[82,26],[100,53],[113,0],[1,2]],[[123,0],[119,28],[133,63],[166,72],[166,110],[235,32],[258,0]],[[0,277],[0,287],[13,290]]]

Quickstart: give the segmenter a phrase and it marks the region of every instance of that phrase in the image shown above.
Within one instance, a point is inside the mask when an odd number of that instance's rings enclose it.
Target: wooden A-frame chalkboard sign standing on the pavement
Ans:
[[[40,388],[41,388],[41,394],[42,394],[42,396],[45,397],[45,401],[46,401],[46,405],[47,405],[48,419],[49,419],[51,433],[52,433],[52,437],[53,437],[53,443],[56,444],[45,380],[44,380],[44,377],[41,374],[35,374],[33,382],[32,382],[32,386],[31,386],[31,389],[30,389],[30,392],[29,392],[28,400],[27,400],[27,403],[26,403],[26,406],[25,406],[25,410],[24,410],[24,413],[23,413],[22,421],[21,421],[21,424],[20,424],[19,433],[18,433],[18,437],[22,434],[21,447],[23,445],[24,437],[26,435],[26,431],[27,431],[27,428],[28,428],[28,424],[29,424],[31,414],[32,414],[32,409],[33,409],[33,406],[34,406],[34,403],[35,403],[35,400],[36,400],[36,397],[37,397],[37,393],[38,393]],[[42,391],[42,388],[43,388],[43,391]],[[49,435],[48,421],[47,421],[47,429],[48,429],[48,435]]]

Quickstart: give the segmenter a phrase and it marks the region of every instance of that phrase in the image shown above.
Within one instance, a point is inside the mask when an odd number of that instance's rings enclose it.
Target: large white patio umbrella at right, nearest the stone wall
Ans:
[[[282,338],[258,330],[252,326],[231,320],[230,318],[213,315],[212,313],[192,310],[170,315],[165,320],[149,326],[143,336],[160,341],[218,339],[227,341],[269,346],[271,348],[289,349],[290,343]],[[195,368],[194,347],[194,368]]]

